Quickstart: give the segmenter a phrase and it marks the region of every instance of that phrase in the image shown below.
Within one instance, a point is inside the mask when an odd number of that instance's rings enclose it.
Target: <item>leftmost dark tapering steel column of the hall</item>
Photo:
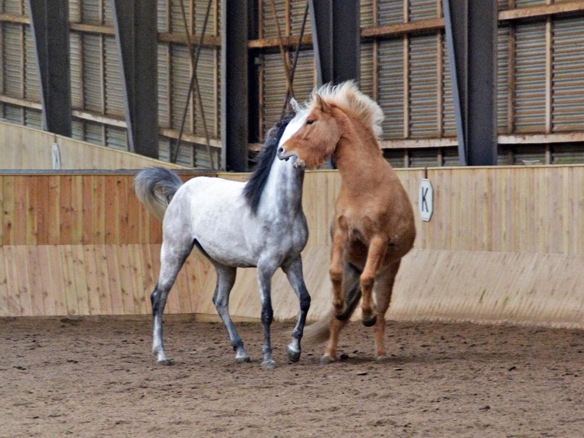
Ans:
[[[71,137],[68,0],[27,0],[39,75],[43,129]]]

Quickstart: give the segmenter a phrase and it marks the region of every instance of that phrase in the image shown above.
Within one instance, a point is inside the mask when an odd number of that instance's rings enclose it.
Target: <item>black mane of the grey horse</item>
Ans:
[[[284,134],[284,130],[288,126],[288,123],[290,123],[290,120],[294,119],[294,116],[296,116],[294,112],[288,112],[279,123],[276,123],[268,131],[262,151],[259,153],[258,165],[244,187],[244,197],[252,209],[253,214],[258,213],[259,201],[262,198],[267,177],[270,175],[272,163],[274,162],[274,158],[276,158],[280,138]]]

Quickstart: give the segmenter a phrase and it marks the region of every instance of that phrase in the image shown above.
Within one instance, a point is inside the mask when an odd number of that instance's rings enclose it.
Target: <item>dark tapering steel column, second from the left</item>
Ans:
[[[158,158],[156,2],[113,0],[131,152]]]

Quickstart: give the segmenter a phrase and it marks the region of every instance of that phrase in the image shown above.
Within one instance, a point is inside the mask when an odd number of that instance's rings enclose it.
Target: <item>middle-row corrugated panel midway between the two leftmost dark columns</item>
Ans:
[[[83,44],[83,94],[85,109],[102,112],[101,36],[84,34]]]

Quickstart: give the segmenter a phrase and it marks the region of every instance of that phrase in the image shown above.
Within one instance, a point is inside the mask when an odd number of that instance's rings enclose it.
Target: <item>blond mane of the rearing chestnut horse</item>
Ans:
[[[354,81],[342,82],[339,85],[326,84],[314,89],[307,105],[308,110],[314,109],[317,95],[321,96],[326,103],[349,110],[364,124],[370,126],[378,139],[381,137],[383,111],[377,102],[359,91]]]

